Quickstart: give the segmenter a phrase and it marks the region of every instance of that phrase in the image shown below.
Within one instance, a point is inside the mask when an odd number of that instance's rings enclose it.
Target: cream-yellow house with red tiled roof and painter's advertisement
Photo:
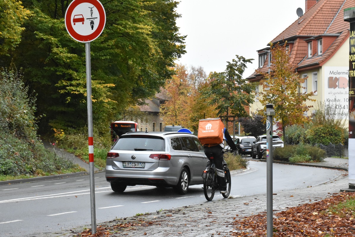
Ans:
[[[297,11],[299,18],[271,41],[286,44],[291,63],[297,65],[297,73],[307,77],[299,93],[313,91],[312,99],[316,101],[306,102],[307,106],[313,106],[306,116],[312,115],[319,102],[323,102],[348,120],[349,23],[344,21],[344,9],[353,6],[354,0],[306,0],[305,13]],[[271,61],[270,45],[257,52],[259,69],[267,72]],[[256,82],[263,77],[255,71],[247,79]],[[261,90],[262,85],[259,85],[250,112],[264,110],[258,102]]]

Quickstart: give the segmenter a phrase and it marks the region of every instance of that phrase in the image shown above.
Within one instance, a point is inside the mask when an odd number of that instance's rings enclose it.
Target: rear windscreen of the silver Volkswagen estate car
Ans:
[[[112,150],[165,151],[165,144],[163,138],[123,137],[118,139]]]

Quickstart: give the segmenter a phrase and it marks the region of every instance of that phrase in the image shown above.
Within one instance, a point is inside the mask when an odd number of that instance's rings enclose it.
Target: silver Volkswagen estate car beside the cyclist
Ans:
[[[174,187],[186,194],[203,184],[207,157],[197,136],[180,132],[130,132],[107,153],[106,180],[114,192],[138,184]]]

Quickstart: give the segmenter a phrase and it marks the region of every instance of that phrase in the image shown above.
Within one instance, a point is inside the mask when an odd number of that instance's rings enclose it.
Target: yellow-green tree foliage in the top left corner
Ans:
[[[0,55],[9,56],[21,42],[22,24],[30,16],[30,11],[24,9],[20,1],[0,1]]]

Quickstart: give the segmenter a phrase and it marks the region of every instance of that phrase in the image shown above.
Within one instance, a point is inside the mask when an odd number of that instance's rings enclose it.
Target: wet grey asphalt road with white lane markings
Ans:
[[[232,175],[233,196],[266,193],[266,163],[250,161],[249,170]],[[329,182],[343,171],[273,164],[273,192]],[[95,174],[97,222],[206,202],[202,185],[190,186],[187,195],[172,188],[127,187],[112,192],[105,173]],[[0,186],[0,236],[30,237],[63,228],[91,224],[89,176]],[[214,200],[222,199],[215,195]]]

